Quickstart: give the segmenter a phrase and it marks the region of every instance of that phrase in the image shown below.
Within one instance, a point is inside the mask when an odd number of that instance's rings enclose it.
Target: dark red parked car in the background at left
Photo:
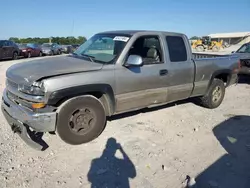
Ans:
[[[27,58],[42,56],[42,48],[38,44],[29,43],[29,44],[19,44],[20,56]]]

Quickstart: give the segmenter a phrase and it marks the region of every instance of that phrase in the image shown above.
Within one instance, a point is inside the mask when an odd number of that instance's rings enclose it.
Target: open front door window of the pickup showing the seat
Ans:
[[[129,55],[142,57],[144,65],[163,63],[162,49],[158,36],[139,37],[132,45]]]

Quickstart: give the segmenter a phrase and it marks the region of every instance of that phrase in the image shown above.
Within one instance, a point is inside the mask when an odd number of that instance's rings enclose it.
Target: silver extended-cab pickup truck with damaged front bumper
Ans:
[[[41,149],[37,132],[82,144],[98,137],[114,114],[190,97],[216,108],[238,71],[233,55],[195,59],[180,33],[103,32],[71,55],[11,66],[2,112],[34,148]]]

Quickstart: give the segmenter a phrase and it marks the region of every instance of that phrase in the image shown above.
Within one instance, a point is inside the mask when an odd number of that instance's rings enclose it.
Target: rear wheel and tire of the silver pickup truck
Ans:
[[[207,94],[200,98],[202,106],[210,109],[217,108],[224,99],[225,91],[224,82],[220,79],[214,79]]]

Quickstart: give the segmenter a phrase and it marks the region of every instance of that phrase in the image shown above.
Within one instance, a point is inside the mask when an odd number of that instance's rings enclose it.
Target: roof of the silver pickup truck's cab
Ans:
[[[176,32],[167,32],[167,31],[153,31],[153,30],[114,30],[114,31],[105,31],[105,32],[101,32],[101,33],[98,33],[98,34],[117,34],[117,35],[134,35],[134,34],[137,34],[137,33],[152,33],[152,34],[160,34],[160,33],[163,33],[163,34],[176,34],[176,35],[184,35],[183,33],[176,33]]]

